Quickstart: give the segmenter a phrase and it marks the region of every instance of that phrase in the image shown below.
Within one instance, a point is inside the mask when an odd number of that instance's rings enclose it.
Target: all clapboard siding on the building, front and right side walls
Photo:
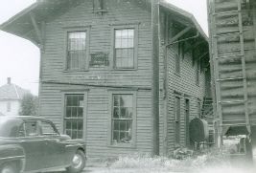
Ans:
[[[40,115],[52,119],[63,132],[64,94],[85,94],[84,141],[89,157],[116,157],[136,152],[152,152],[151,115],[151,12],[131,0],[106,0],[104,15],[93,13],[92,0],[84,1],[49,21],[46,21],[42,72],[39,90]],[[161,14],[162,15],[162,14]],[[83,72],[65,71],[66,32],[74,26],[89,29],[89,54],[105,53],[111,59],[112,28],[115,25],[138,26],[137,69],[114,70],[111,66],[89,67]],[[161,40],[162,41],[162,40]],[[196,66],[192,66],[192,55],[181,60],[181,74],[175,75],[176,47],[168,50],[167,63],[164,60],[165,47],[159,50],[159,144],[161,155],[171,155],[175,144],[174,100],[175,92],[191,96],[191,119],[198,115],[198,98],[204,96],[204,76],[196,85]],[[89,58],[89,57],[88,57]],[[167,64],[167,66],[166,66]],[[167,68],[167,69],[166,69]],[[168,78],[165,78],[165,73]],[[51,83],[50,83],[51,82]],[[168,91],[165,83],[168,82]],[[73,85],[72,85],[73,83]],[[109,145],[109,91],[128,87],[136,93],[136,133],[132,147]],[[122,89],[126,91],[126,89]],[[181,144],[185,142],[184,99],[181,99]],[[168,152],[167,152],[168,151]]]

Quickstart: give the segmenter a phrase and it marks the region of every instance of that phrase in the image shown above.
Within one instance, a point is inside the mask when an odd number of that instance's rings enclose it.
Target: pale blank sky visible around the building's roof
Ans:
[[[193,13],[202,29],[207,33],[206,0],[167,0],[175,6]],[[0,24],[35,0],[0,0]],[[0,86],[12,77],[12,83],[38,95],[39,50],[30,41],[0,31]]]

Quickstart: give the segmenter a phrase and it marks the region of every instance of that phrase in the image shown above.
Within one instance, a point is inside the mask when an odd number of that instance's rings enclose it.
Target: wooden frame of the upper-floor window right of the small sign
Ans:
[[[117,68],[115,66],[115,30],[134,30],[134,57],[133,57],[133,68]],[[112,25],[111,28],[111,51],[109,64],[110,68],[115,71],[134,71],[138,69],[138,24],[128,24],[128,25]]]

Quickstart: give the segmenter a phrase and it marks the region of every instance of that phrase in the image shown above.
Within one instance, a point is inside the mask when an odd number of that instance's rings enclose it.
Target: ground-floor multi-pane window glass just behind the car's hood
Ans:
[[[65,95],[64,133],[72,139],[83,137],[83,95]]]

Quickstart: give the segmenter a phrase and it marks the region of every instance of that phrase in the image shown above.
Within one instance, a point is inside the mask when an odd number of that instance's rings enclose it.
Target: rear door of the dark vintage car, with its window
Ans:
[[[40,136],[36,120],[24,121],[19,128],[19,142],[26,156],[25,171],[45,167],[45,141]]]

